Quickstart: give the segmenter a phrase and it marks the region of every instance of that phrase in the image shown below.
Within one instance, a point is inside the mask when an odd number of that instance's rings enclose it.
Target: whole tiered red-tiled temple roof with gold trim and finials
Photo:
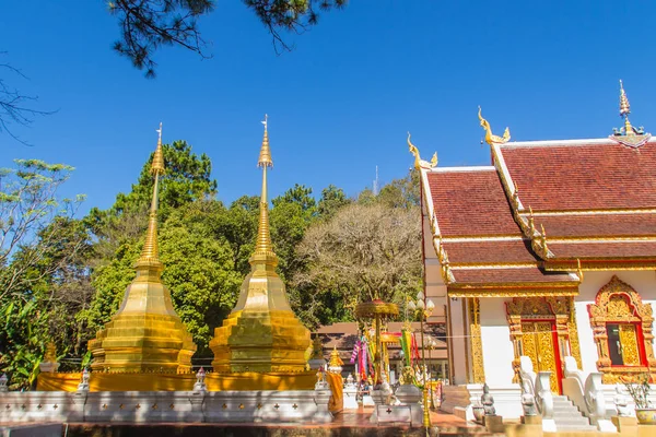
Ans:
[[[573,295],[582,269],[656,267],[656,141],[622,117],[608,139],[514,143],[480,117],[492,166],[421,167],[449,295]]]

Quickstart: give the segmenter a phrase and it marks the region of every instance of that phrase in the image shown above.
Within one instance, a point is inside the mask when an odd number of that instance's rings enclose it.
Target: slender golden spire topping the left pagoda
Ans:
[[[157,147],[153,155],[153,163],[151,165],[151,173],[155,179],[153,184],[153,197],[151,201],[151,209],[148,218],[148,231],[145,232],[145,243],[143,244],[143,250],[141,257],[136,263],[137,268],[154,268],[155,270],[163,270],[164,265],[160,261],[160,250],[157,247],[157,205],[159,205],[159,186],[160,176],[164,173],[164,153],[162,150],[162,123],[160,129],[156,129],[159,134]]]

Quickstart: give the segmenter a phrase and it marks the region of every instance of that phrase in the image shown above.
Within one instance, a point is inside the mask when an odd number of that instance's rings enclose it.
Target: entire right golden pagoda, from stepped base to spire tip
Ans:
[[[267,119],[258,166],[262,167],[259,229],[237,305],[214,330],[210,349],[214,371],[302,371],[307,365],[309,331],[292,311],[269,234],[267,167],[272,167]]]

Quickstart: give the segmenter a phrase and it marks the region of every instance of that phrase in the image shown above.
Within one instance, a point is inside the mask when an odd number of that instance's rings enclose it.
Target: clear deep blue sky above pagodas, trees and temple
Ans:
[[[241,1],[220,0],[200,21],[213,58],[164,48],[155,80],[112,50],[118,25],[104,4],[0,4],[0,51],[30,78],[5,80],[58,109],[15,128],[34,146],[0,134],[0,166],[75,166],[65,193],[86,193],[83,212],[130,189],[160,121],[165,142],[184,139],[211,157],[225,202],[259,192],[265,113],[271,196],[296,182],[353,196],[376,165],[382,184],[402,177],[408,130],[441,166],[488,164],[478,105],[513,140],[604,138],[621,125],[619,79],[633,123],[656,132],[654,2],[351,1],[277,56]]]

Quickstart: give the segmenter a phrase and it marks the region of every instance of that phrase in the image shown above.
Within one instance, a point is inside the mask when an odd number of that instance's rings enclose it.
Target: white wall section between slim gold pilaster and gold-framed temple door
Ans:
[[[513,383],[513,342],[506,318],[508,299],[485,297],[480,299],[481,343],[483,369],[490,387],[507,387]]]

